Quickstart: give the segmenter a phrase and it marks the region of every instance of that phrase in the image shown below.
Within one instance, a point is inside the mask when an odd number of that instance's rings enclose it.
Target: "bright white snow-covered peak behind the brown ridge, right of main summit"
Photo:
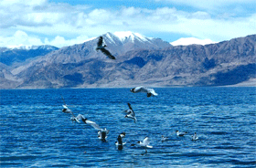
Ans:
[[[198,39],[195,37],[182,37],[178,40],[171,42],[170,44],[173,46],[188,46],[188,45],[208,45],[208,44],[214,44],[216,42],[210,40],[210,39]]]

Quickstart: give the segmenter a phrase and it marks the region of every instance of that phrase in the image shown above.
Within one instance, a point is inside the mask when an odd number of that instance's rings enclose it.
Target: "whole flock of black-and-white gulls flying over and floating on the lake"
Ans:
[[[99,37],[98,43],[97,43],[97,47],[96,47],[96,51],[101,50],[101,52],[103,54],[105,54],[108,58],[111,59],[115,59],[115,57],[112,56],[112,54],[110,53],[110,51],[108,51],[105,47],[107,47],[106,45],[103,45],[103,37]],[[140,87],[135,87],[133,89],[130,89],[131,92],[133,93],[146,93],[147,97],[151,97],[151,96],[157,96],[158,94],[155,92],[154,89],[148,89],[145,88],[144,86],[140,86]],[[63,97],[62,97],[63,99]],[[63,99],[64,104],[62,111],[65,113],[69,113],[71,114],[71,118],[70,121],[72,122],[84,122],[85,124],[91,125],[91,127],[93,127],[96,131],[98,131],[98,138],[102,141],[102,142],[106,142],[107,139],[107,135],[109,133],[109,131],[104,128],[102,129],[97,123],[95,123],[94,121],[89,121],[87,118],[85,118],[83,115],[79,114],[78,116],[75,116],[74,113],[72,112],[72,110],[69,110],[65,100]],[[132,119],[134,122],[137,121],[136,117],[135,117],[135,112],[131,106],[130,103],[127,103],[129,109],[128,110],[124,110],[126,112],[126,115],[124,116],[124,118],[128,118],[128,119]],[[176,131],[176,136],[184,136],[187,134],[187,131],[181,132],[181,131]],[[117,142],[115,142],[115,145],[117,146],[118,150],[123,150],[123,145],[126,142],[123,142],[123,138],[125,137],[125,132],[122,132],[118,135],[117,137]],[[168,141],[169,138],[165,137],[164,135],[162,135],[161,141],[162,142],[166,142]],[[192,141],[197,141],[198,137],[197,137],[197,133],[195,132],[194,135],[192,135]],[[144,140],[141,142],[137,142],[139,144],[139,146],[144,147],[145,152],[147,148],[153,148],[153,146],[150,146],[150,140],[149,137],[145,137]],[[134,146],[135,144],[131,144],[131,146]]]

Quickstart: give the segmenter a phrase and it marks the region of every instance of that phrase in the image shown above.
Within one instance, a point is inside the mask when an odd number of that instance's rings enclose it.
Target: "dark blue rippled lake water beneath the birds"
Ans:
[[[155,89],[157,97],[129,89],[1,90],[1,167],[255,167],[255,88]],[[74,124],[61,112],[63,96],[110,133]],[[132,104],[137,123],[125,119]],[[176,130],[188,131],[176,137]],[[114,145],[126,132],[123,151]],[[197,132],[197,142],[191,135]],[[161,142],[161,135],[170,141]],[[153,149],[131,146],[151,139]]]

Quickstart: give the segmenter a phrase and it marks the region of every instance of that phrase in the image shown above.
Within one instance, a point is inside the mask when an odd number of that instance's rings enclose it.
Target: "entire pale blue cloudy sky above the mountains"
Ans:
[[[255,0],[0,0],[0,47],[72,46],[132,31],[173,45],[256,34]]]

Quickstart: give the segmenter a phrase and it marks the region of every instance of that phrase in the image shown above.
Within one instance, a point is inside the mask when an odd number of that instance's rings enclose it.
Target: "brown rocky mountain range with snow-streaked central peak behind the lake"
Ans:
[[[115,60],[95,51],[97,37],[9,61],[10,49],[0,48],[0,88],[227,86],[256,79],[256,35],[176,47],[132,32],[102,37]]]

